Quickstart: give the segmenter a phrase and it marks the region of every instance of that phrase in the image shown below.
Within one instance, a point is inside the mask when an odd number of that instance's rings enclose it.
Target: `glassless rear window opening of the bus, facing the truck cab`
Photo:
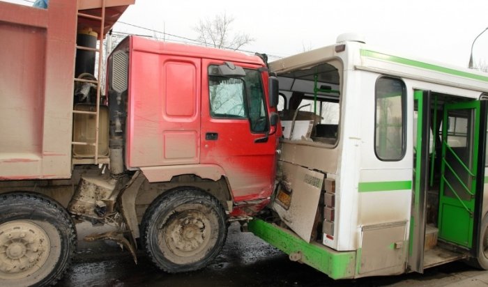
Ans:
[[[340,75],[342,63],[328,61],[278,75],[287,101],[278,106],[284,138],[293,126],[293,139],[334,146],[340,134]],[[283,104],[281,104],[283,102]],[[300,129],[296,129],[300,126]],[[297,134],[302,132],[302,134]]]

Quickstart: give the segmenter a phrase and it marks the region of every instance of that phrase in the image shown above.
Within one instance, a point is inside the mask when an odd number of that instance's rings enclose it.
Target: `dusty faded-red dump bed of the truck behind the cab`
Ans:
[[[131,3],[105,1],[104,35]],[[101,6],[51,0],[41,9],[0,1],[0,180],[70,178],[77,23],[94,21],[78,10],[96,15]]]

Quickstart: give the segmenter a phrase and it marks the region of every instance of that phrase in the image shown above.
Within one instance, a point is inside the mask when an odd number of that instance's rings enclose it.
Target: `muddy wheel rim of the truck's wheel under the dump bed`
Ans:
[[[28,277],[49,257],[47,233],[33,222],[16,220],[0,225],[0,279]]]

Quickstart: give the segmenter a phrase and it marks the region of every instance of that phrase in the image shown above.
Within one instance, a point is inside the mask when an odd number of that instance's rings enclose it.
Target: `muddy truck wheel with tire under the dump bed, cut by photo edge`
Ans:
[[[0,194],[0,286],[51,286],[76,249],[63,206],[31,193]]]

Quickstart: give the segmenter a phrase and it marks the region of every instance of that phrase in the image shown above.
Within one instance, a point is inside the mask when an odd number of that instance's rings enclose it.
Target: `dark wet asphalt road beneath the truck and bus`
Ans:
[[[82,232],[80,232],[82,235]],[[289,261],[252,233],[231,224],[226,245],[208,267],[196,272],[167,274],[144,253],[135,265],[127,251],[112,242],[79,242],[68,274],[57,286],[445,286],[480,272],[464,263],[450,263],[425,274],[334,281],[312,267]]]

